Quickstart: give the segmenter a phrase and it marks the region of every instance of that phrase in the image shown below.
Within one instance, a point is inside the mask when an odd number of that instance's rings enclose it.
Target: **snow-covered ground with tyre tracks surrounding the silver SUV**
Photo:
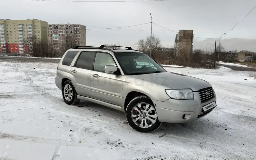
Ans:
[[[197,121],[163,123],[145,134],[133,130],[122,112],[87,101],[66,105],[54,82],[57,65],[0,62],[0,159],[256,159],[256,80],[250,72],[166,68],[209,81],[218,106]]]

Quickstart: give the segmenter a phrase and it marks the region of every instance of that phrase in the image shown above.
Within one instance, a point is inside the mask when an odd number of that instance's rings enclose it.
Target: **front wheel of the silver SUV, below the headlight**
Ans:
[[[147,106],[149,105],[150,107],[148,107],[148,110],[152,110],[152,111],[150,111],[151,113],[149,112],[149,113],[146,113],[143,115],[142,111],[146,111],[146,106],[145,106],[145,110],[142,109],[139,112],[138,111],[138,109],[140,108],[140,107],[138,107],[139,105],[141,106],[141,108],[143,108],[143,105],[147,105]],[[153,108],[151,108],[151,107],[153,107]],[[134,114],[133,113],[134,111],[139,112],[139,114],[138,113]],[[153,112],[155,112],[155,114],[154,114],[155,118],[151,117],[151,116],[153,116]],[[161,125],[161,122],[159,122],[158,117],[157,117],[156,108],[155,108],[152,100],[147,96],[137,96],[137,97],[133,98],[127,105],[125,115],[126,115],[128,124],[133,129],[135,129],[139,132],[144,132],[144,133],[153,132],[153,131],[157,130]],[[138,120],[136,120],[136,119],[138,119]],[[134,122],[134,121],[136,121],[136,122]],[[151,121],[155,121],[155,122],[153,123]],[[147,122],[149,122],[150,125],[148,125]]]

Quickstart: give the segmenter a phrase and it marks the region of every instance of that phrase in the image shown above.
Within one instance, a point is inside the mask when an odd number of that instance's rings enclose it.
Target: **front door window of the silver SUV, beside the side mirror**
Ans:
[[[116,65],[111,55],[107,53],[96,53],[94,70],[104,71],[106,65]]]

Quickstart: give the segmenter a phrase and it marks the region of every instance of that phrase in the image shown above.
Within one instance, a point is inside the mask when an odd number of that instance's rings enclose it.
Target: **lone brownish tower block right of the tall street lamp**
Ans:
[[[179,33],[176,34],[174,41],[176,54],[179,54],[181,49],[184,49],[188,54],[191,54],[193,49],[193,40],[193,30],[180,30]]]

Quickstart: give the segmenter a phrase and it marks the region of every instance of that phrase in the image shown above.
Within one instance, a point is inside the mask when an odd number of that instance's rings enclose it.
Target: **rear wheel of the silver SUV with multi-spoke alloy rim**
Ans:
[[[69,98],[67,98],[67,95]],[[62,85],[62,97],[68,105],[75,105],[80,102],[80,99],[77,99],[75,87],[70,80],[65,81]]]

